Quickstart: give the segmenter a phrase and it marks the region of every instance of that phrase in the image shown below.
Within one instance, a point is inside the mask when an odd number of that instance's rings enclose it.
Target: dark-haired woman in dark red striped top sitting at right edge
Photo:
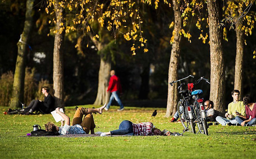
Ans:
[[[246,116],[243,116],[239,112],[236,112],[236,121],[241,124],[241,126],[251,126],[256,124],[256,104],[255,102],[253,102],[252,96],[246,95],[243,98],[243,102],[245,104]]]

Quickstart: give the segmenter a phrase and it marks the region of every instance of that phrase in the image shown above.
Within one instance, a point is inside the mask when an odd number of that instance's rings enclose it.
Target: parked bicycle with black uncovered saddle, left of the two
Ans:
[[[193,77],[192,75],[189,75],[188,77]],[[180,116],[180,121],[182,126],[185,128],[183,130],[183,133],[185,131],[190,130],[192,133],[196,134],[196,129],[195,129],[195,124],[194,124],[194,112],[193,112],[193,108],[190,107],[189,101],[191,99],[191,95],[189,90],[183,90],[182,86],[185,85],[185,83],[181,83],[181,80],[187,79],[188,77],[185,77],[183,79],[179,79],[177,81],[171,81],[169,84],[171,86],[173,86],[174,83],[176,82],[180,82],[180,86],[178,87],[178,89],[180,89],[180,91],[178,92],[178,94],[182,97],[181,101],[178,102],[178,114]],[[185,122],[187,123],[185,125]],[[190,125],[190,129],[188,128]]]

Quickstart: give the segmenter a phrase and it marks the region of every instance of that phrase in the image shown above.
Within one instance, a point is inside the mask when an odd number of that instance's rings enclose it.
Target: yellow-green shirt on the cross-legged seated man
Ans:
[[[234,102],[229,103],[227,113],[229,115],[233,114],[233,116],[235,118],[236,117],[236,111],[241,113],[241,115],[245,116],[245,105],[243,104],[243,101],[238,101],[236,103],[234,103]]]

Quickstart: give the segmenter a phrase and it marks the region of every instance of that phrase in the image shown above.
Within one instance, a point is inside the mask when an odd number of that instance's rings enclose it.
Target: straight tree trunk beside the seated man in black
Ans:
[[[63,23],[62,7],[58,3],[54,4],[56,14],[55,25],[55,38],[54,38],[54,50],[53,50],[53,89],[55,96],[55,107],[64,108],[64,77],[63,77],[63,52],[62,52],[62,38],[64,31],[60,23]],[[58,10],[58,11],[57,11]]]

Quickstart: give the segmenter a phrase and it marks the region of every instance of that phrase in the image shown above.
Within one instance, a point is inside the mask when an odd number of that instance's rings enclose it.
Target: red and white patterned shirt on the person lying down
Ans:
[[[140,136],[151,136],[151,135],[153,135],[153,132],[152,132],[153,126],[154,125],[151,122],[144,122],[144,123],[139,123],[139,124],[133,124],[132,123],[132,128],[133,128],[134,135],[140,135]]]

